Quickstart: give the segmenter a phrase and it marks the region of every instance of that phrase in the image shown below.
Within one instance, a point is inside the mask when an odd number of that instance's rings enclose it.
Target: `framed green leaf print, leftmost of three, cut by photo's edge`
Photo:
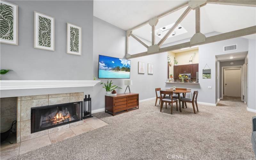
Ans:
[[[18,5],[0,3],[0,42],[18,45]]]

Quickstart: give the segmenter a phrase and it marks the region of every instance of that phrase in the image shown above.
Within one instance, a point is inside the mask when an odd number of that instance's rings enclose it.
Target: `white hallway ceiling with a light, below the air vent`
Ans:
[[[225,61],[233,61],[233,60],[244,60],[246,54],[248,52],[236,52],[236,53],[229,53],[229,54],[221,54],[221,55],[217,55],[217,60],[221,61],[221,62],[225,62]],[[230,57],[233,57],[232,59],[230,59]]]

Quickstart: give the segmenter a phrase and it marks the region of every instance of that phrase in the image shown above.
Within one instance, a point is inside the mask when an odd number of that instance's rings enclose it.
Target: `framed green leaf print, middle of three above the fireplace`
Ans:
[[[34,11],[34,48],[54,51],[54,18]]]

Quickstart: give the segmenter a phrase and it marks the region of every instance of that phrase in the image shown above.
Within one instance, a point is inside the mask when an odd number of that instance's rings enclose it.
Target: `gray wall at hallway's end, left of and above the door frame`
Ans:
[[[230,62],[233,62],[234,64],[230,64]],[[219,86],[220,86],[220,88],[219,88],[219,98],[220,97],[222,97],[222,85],[221,85],[221,80],[222,80],[222,67],[228,67],[228,66],[243,66],[244,65],[244,60],[230,60],[230,61],[226,61],[226,62],[220,62],[220,68],[219,68],[219,70],[220,70],[220,81],[219,81]],[[242,72],[241,72],[241,74],[242,74]],[[243,76],[243,75],[241,75],[241,76]],[[242,95],[243,96],[243,95]],[[222,97],[223,98],[223,97]]]

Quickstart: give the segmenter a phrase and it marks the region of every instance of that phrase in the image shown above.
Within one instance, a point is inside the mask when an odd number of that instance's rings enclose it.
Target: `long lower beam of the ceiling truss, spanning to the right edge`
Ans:
[[[162,53],[162,52],[174,51],[174,50],[178,50],[181,48],[192,47],[195,45],[208,44],[208,43],[223,41],[226,39],[247,36],[247,35],[252,35],[252,34],[256,34],[256,26],[238,29],[235,31],[222,33],[222,34],[215,35],[215,36],[206,37],[205,42],[200,42],[197,44],[190,44],[190,42],[185,42],[185,43],[176,44],[176,45],[172,45],[172,46],[168,46],[168,47],[164,47],[164,48],[159,48],[158,52],[153,52],[153,53],[142,52],[142,53],[132,54],[131,57],[129,57],[128,59],[142,57],[142,56],[148,56],[148,55]]]

